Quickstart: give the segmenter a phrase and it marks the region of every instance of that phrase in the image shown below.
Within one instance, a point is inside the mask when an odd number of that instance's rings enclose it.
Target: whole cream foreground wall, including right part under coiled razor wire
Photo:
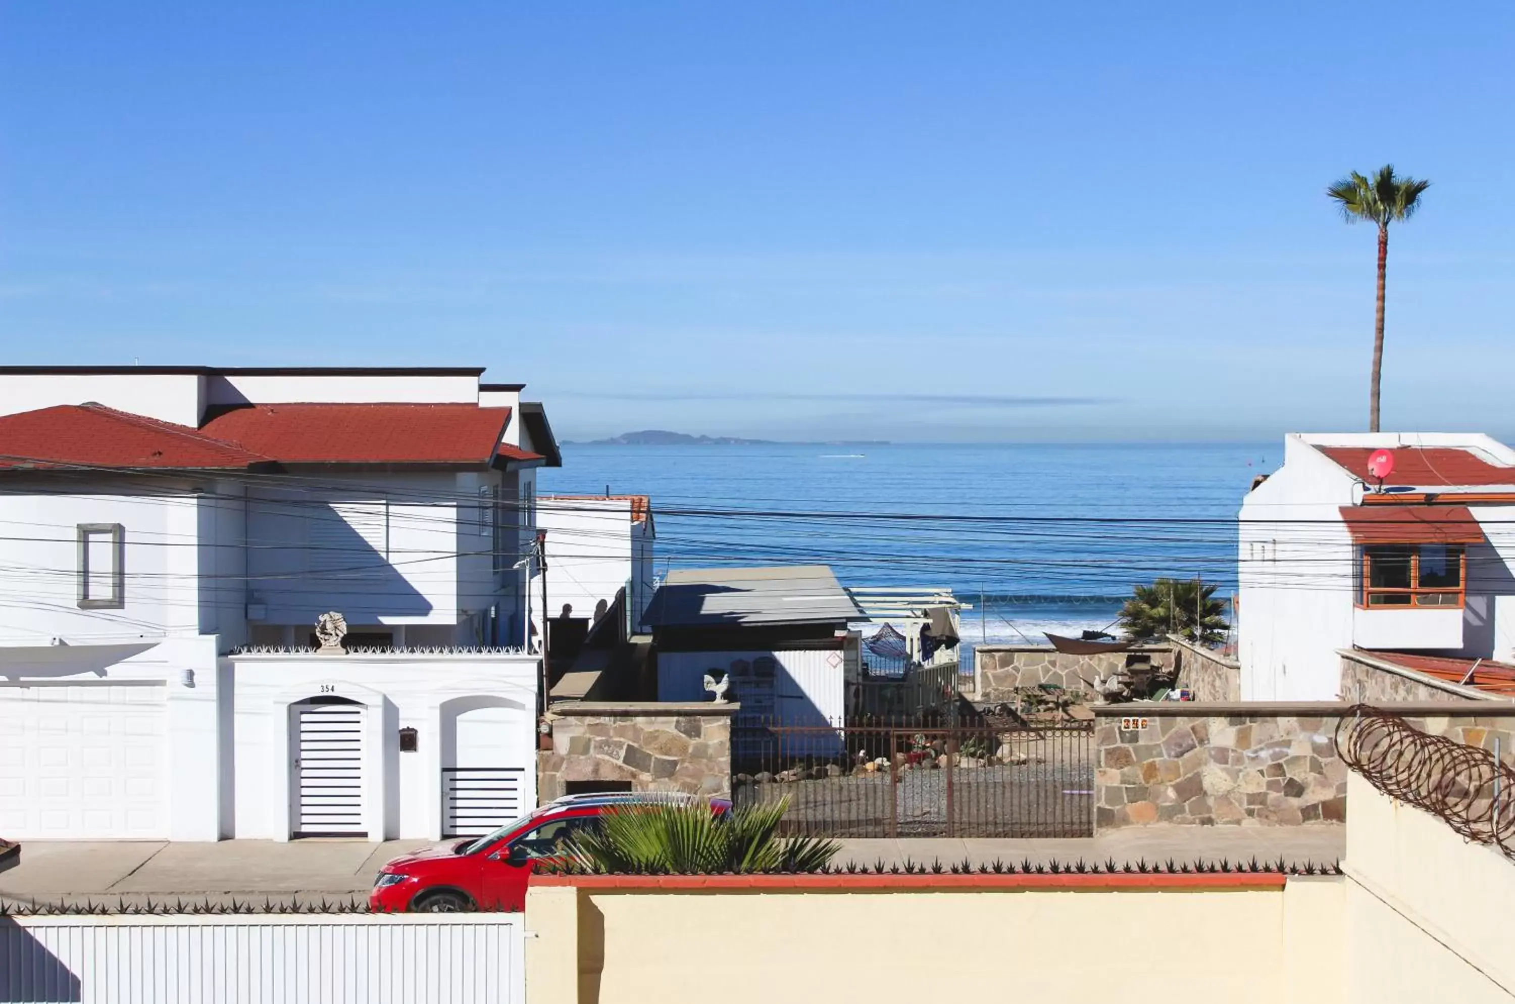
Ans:
[[[527,1001],[1515,996],[1515,863],[1357,775],[1348,784],[1345,875],[1273,889],[974,892],[923,889],[923,875],[883,892],[533,886]]]

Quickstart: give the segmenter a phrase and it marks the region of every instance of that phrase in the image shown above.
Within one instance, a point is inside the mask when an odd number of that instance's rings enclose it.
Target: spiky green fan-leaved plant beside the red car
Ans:
[[[789,800],[742,806],[717,816],[708,804],[618,806],[568,848],[574,868],[591,872],[688,875],[818,872],[841,851],[836,840],[779,837]]]

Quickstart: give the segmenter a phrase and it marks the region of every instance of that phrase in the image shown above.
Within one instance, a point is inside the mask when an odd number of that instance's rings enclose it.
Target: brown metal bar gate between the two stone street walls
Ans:
[[[773,724],[732,745],[736,804],[788,798],[791,836],[1094,836],[1092,724]]]

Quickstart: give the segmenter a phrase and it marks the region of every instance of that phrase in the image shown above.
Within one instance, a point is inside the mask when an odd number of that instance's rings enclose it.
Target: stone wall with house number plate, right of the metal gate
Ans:
[[[1150,822],[1342,822],[1347,765],[1336,722],[1347,704],[1115,704],[1095,709],[1095,827]],[[1463,710],[1467,709],[1467,710]],[[1456,701],[1394,709],[1417,728],[1510,751],[1515,706]],[[1492,715],[1491,715],[1492,712]]]

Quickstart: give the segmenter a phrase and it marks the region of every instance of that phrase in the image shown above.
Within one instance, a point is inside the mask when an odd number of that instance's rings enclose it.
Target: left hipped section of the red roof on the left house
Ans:
[[[61,404],[0,416],[0,469],[247,469],[267,462],[267,456],[188,426],[102,404]]]

